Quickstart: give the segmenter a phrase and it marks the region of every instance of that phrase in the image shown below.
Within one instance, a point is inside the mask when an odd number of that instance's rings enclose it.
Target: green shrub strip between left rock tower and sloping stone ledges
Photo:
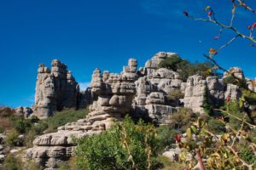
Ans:
[[[66,110],[56,112],[54,116],[50,116],[44,120],[48,125],[46,133],[55,132],[57,127],[65,125],[67,122],[76,122],[84,118],[89,113],[89,110]]]

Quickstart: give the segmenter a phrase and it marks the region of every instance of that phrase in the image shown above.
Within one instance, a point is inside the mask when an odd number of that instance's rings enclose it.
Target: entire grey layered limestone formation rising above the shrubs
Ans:
[[[216,106],[221,105],[227,96],[231,99],[241,97],[236,85],[225,85],[223,79],[218,77],[204,79],[195,75],[183,82],[176,71],[158,68],[160,61],[172,55],[177,54],[155,54],[138,71],[136,59],[129,59],[128,65],[119,74],[96,69],[92,74],[90,89],[83,93],[79,93],[78,83],[60,61],[53,60],[51,71],[39,65],[36,116],[46,117],[63,108],[83,108],[89,104],[90,113],[78,122],[59,127],[57,133],[38,136],[33,142],[34,147],[27,150],[27,158],[34,159],[46,169],[53,169],[73,156],[76,147],[73,137],[101,133],[113,122],[121,121],[126,114],[135,118],[143,117],[159,125],[168,124],[168,117],[181,106],[203,113],[206,93]],[[233,71],[244,78],[238,68]],[[247,84],[254,90],[253,82],[247,81]],[[167,99],[168,94],[177,91],[184,94],[183,99]]]

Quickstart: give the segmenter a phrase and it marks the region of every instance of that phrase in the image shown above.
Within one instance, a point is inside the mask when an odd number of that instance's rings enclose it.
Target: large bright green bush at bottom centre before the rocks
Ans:
[[[155,129],[125,117],[108,131],[79,139],[77,164],[84,169],[147,169],[154,165]]]

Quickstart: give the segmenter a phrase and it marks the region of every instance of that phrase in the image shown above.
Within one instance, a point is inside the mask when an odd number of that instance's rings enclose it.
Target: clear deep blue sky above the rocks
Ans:
[[[250,3],[251,2],[251,3]],[[248,1],[256,7],[253,0]],[[77,82],[90,82],[95,68],[122,71],[129,58],[143,66],[159,51],[177,52],[184,59],[203,61],[216,48],[218,28],[188,20],[189,14],[207,16],[207,5],[219,20],[230,20],[230,1],[223,0],[0,0],[0,104],[32,105],[39,63],[60,59]],[[239,8],[236,27],[247,32],[256,15]],[[240,66],[256,77],[256,48],[245,40],[234,42],[216,56],[226,68]]]

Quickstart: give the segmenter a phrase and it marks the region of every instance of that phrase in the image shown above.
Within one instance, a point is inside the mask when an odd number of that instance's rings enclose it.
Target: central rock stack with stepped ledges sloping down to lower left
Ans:
[[[91,93],[94,98],[89,115],[78,122],[58,127],[57,133],[39,136],[33,141],[34,147],[26,151],[26,157],[50,170],[73,156],[73,138],[101,133],[121,120],[131,110],[132,96],[136,93],[137,60],[130,59],[129,65],[120,74],[99,69],[93,72]]]

